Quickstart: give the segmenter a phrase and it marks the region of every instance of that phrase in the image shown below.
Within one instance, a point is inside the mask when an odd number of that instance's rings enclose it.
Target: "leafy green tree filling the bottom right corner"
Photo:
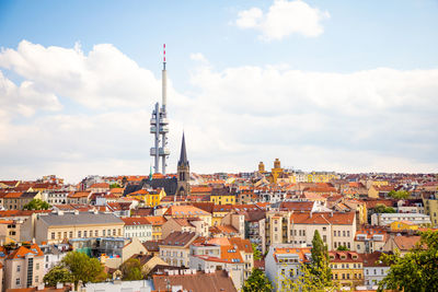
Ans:
[[[379,283],[379,291],[438,291],[438,232],[423,232],[419,243],[401,257],[382,254],[381,259],[391,265],[388,276]]]

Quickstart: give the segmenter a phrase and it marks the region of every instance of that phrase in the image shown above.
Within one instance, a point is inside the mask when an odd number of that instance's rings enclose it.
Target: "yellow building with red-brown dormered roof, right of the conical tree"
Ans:
[[[364,284],[364,259],[355,252],[330,252],[330,268],[333,280],[342,287]]]

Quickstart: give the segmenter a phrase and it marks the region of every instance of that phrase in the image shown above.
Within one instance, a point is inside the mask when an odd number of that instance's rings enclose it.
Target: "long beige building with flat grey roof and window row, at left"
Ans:
[[[39,244],[61,243],[70,238],[123,237],[124,222],[112,213],[74,212],[38,215],[34,236]]]

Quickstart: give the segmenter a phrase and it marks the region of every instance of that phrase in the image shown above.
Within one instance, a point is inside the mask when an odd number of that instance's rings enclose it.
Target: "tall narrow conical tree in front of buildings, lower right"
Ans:
[[[332,283],[332,269],[328,266],[328,250],[327,246],[321,240],[320,232],[316,230],[312,240],[312,262],[310,265],[310,272],[324,285]]]

